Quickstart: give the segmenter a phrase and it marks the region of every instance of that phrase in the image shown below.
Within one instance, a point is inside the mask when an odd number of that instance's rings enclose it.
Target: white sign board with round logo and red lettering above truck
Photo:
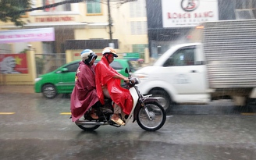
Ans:
[[[162,0],[162,27],[195,27],[219,20],[218,0]]]

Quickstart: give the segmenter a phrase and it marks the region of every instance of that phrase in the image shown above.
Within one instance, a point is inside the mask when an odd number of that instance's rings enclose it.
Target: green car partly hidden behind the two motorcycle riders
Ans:
[[[55,98],[57,94],[71,94],[75,86],[75,74],[79,62],[80,60],[69,62],[50,73],[37,77],[34,84],[35,93],[42,93],[45,98]],[[130,67],[133,71],[133,66],[128,59],[115,59],[110,66],[123,76],[127,76],[126,67]]]

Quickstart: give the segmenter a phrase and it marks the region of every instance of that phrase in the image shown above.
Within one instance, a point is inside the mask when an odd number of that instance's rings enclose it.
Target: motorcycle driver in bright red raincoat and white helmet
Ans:
[[[120,108],[126,115],[129,115],[133,108],[133,98],[129,90],[121,87],[121,80],[126,83],[129,79],[126,76],[116,72],[110,63],[114,61],[114,57],[118,57],[116,51],[113,48],[104,48],[102,51],[103,57],[98,62],[95,69],[95,81],[98,98],[103,105],[105,103],[104,98],[111,98],[114,102],[114,114],[111,120],[119,125],[125,125],[122,119],[119,118]]]

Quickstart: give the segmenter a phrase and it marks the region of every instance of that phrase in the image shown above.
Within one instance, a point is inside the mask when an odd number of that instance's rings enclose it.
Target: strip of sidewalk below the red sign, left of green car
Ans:
[[[33,94],[34,85],[5,85],[0,84],[0,94],[2,93],[23,93]]]

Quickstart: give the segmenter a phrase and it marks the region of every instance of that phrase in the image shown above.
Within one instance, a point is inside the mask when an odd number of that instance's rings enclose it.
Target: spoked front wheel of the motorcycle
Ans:
[[[165,120],[165,109],[154,101],[145,103],[145,107],[140,108],[140,112],[137,114],[138,125],[147,131],[159,130],[165,124]]]

